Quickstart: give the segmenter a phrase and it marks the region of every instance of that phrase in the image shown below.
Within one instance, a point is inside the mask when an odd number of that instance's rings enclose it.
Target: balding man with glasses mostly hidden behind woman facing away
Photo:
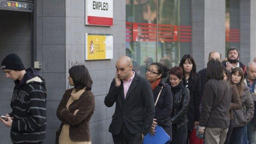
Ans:
[[[216,51],[210,52],[209,57],[208,57],[208,61],[210,61],[210,60],[218,60],[218,61],[220,61],[221,60],[221,54],[219,52],[216,52]],[[207,78],[207,76],[206,76],[206,68],[200,70],[198,72],[198,74],[200,74],[200,80],[201,80],[200,96],[202,98],[203,90],[204,90],[204,85],[206,84],[206,78]]]

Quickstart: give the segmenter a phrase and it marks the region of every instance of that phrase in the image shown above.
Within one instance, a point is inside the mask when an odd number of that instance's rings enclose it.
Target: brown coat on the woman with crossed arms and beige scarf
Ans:
[[[78,100],[74,100],[66,108],[68,99],[71,96],[73,88],[66,90],[62,100],[57,108],[57,117],[63,124],[70,124],[69,137],[73,141],[90,141],[89,121],[95,108],[94,95],[90,90],[86,90]],[[76,115],[74,111],[79,109]]]

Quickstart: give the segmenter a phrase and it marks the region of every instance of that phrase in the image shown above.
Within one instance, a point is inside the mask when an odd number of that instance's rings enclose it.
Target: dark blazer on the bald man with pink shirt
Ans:
[[[121,85],[116,87],[113,79],[104,103],[107,107],[116,103],[108,130],[112,134],[120,134],[123,123],[132,134],[141,132],[146,136],[150,131],[155,114],[153,93],[148,80],[138,76],[136,72],[125,99],[122,80]]]

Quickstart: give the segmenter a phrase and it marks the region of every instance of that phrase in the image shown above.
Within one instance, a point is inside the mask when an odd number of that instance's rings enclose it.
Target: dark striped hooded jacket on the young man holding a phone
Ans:
[[[46,136],[45,81],[34,68],[26,69],[21,82],[15,81],[11,101],[14,117],[10,132],[14,144],[38,144]]]

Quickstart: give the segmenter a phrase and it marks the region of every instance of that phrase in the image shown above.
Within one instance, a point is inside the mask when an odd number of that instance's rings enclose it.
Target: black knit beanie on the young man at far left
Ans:
[[[25,70],[22,60],[17,54],[8,54],[1,63],[2,69]]]

